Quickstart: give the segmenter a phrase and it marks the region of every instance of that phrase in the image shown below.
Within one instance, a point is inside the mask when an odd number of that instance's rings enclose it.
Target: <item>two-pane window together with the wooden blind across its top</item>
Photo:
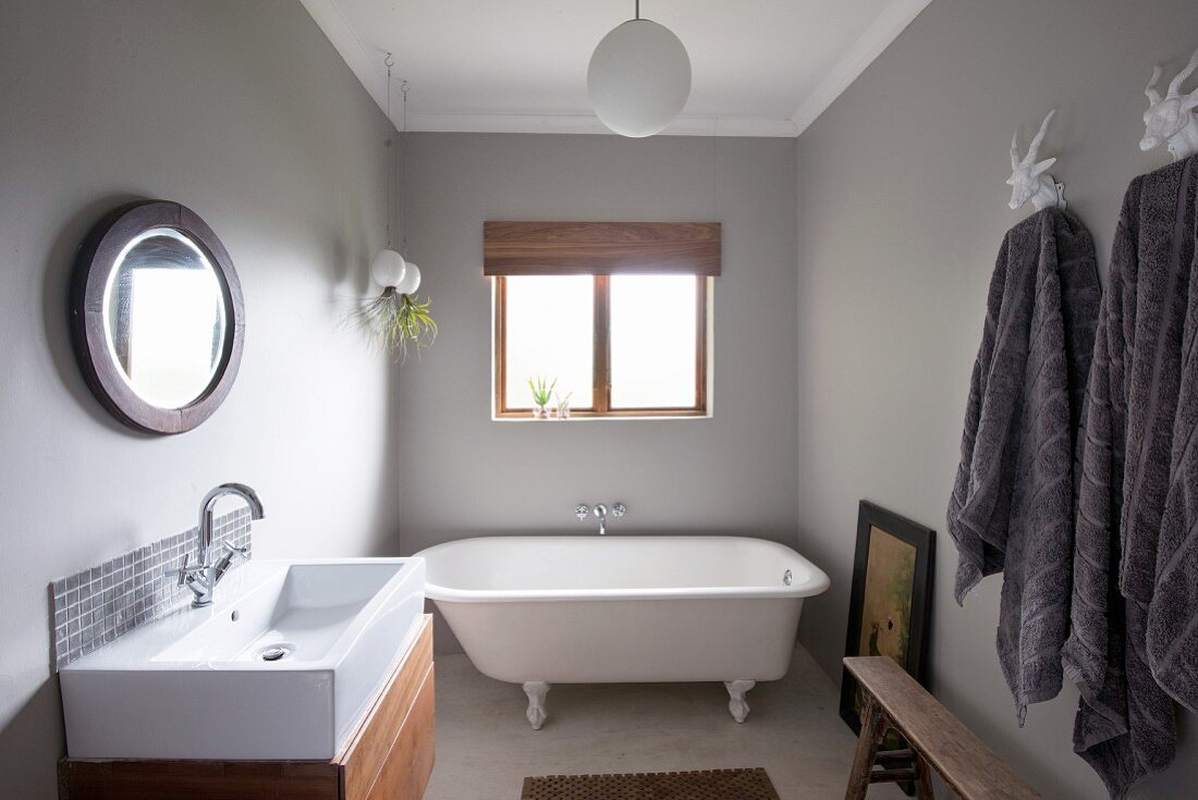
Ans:
[[[571,416],[707,414],[718,223],[484,224],[495,278],[495,413],[527,417],[532,377]]]

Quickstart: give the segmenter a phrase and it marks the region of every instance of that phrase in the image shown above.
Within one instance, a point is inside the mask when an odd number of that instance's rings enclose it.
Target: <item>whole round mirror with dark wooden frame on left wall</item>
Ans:
[[[228,253],[179,204],[117,208],[84,244],[77,351],[96,396],[133,428],[177,434],[216,411],[237,372],[242,317]]]

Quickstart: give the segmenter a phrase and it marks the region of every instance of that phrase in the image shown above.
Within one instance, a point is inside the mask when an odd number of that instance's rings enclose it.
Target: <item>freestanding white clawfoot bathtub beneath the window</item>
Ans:
[[[724,681],[786,674],[803,599],[828,576],[742,537],[489,537],[429,547],[432,599],[479,672],[524,685],[545,721],[550,684]]]

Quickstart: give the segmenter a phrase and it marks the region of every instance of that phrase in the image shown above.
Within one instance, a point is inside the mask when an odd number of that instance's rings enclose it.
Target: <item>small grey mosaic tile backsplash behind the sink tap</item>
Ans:
[[[213,546],[225,541],[250,547],[248,508],[216,517]],[[192,590],[177,586],[176,569],[184,553],[195,559],[196,529],[138,547],[98,566],[54,581],[54,668],[111,642],[121,634],[179,611],[190,602]]]

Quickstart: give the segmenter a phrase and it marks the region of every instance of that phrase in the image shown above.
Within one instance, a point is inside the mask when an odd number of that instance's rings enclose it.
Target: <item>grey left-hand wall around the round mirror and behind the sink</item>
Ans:
[[[394,371],[339,327],[383,240],[389,123],[297,2],[0,4],[0,794],[56,796],[47,583],[255,486],[256,556],[393,550]],[[241,375],[204,426],[133,434],[66,326],[87,229],[190,206],[241,275]],[[164,713],[169,713],[164,709]]]

